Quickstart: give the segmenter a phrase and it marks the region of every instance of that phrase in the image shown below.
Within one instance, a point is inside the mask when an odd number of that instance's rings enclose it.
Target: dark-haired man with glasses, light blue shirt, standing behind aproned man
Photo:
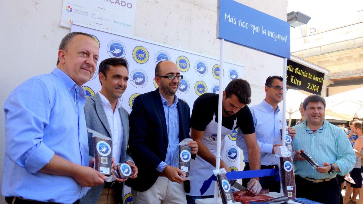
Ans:
[[[275,156],[274,147],[282,145],[280,130],[282,129],[282,113],[278,103],[282,101],[282,77],[270,76],[265,83],[266,97],[262,103],[250,107],[254,128],[256,130],[257,143],[261,150],[261,169],[278,168],[278,158]],[[295,135],[295,129],[289,128],[290,135]],[[285,135],[284,135],[285,136]],[[236,144],[243,150],[244,171],[250,170],[248,160],[248,148],[242,134],[237,132]],[[242,179],[246,186],[249,179]],[[273,192],[280,192],[280,181],[275,181],[273,176],[260,178],[262,188]]]

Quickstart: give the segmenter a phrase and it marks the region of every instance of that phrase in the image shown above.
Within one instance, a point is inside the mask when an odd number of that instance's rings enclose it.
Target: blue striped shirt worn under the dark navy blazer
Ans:
[[[169,165],[178,168],[179,163],[179,113],[178,113],[178,98],[174,96],[174,103],[169,106],[166,99],[160,94],[161,101],[163,102],[166,126],[168,128],[168,149],[164,162],[160,162],[156,170],[163,172],[164,168]]]

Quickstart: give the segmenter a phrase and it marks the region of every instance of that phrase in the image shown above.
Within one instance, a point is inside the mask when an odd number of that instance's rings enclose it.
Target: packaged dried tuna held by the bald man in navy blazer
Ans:
[[[186,138],[179,143],[179,169],[185,173],[185,178],[188,178],[190,171],[190,159],[192,158],[192,148],[187,146],[193,139]]]

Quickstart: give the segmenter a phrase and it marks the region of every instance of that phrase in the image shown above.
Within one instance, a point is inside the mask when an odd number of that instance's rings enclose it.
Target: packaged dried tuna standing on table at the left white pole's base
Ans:
[[[221,168],[219,170],[213,170],[215,176],[217,176],[217,182],[219,191],[221,193],[222,203],[234,203],[234,197],[231,190],[231,185],[226,176],[226,170]]]

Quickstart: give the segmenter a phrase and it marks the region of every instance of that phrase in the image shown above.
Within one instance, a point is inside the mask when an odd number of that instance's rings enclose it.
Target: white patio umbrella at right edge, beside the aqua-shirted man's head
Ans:
[[[325,118],[363,118],[363,87],[326,97],[325,102]]]

